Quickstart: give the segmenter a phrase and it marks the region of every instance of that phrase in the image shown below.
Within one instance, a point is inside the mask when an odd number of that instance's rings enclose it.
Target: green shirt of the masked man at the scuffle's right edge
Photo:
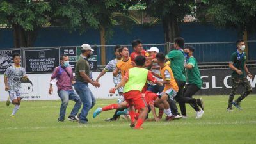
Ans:
[[[199,72],[199,69],[197,66],[196,59],[193,56],[191,56],[186,61],[186,64],[191,65],[193,67],[192,69],[186,68],[188,83],[196,84],[196,86],[198,86],[198,88],[201,88],[203,82],[202,82],[202,79],[200,76],[200,72]]]

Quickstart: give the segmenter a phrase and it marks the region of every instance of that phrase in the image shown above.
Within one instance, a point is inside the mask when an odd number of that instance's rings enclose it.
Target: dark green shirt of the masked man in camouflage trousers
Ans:
[[[236,71],[233,70],[232,77],[245,77],[244,65],[246,61],[246,53],[239,53],[238,51],[231,54],[230,62],[233,63],[234,67],[241,70],[243,74],[239,75]]]

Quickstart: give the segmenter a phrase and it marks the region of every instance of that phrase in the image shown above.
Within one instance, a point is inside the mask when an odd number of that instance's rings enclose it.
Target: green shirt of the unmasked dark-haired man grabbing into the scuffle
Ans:
[[[182,50],[172,50],[170,51],[166,57],[171,60],[170,67],[172,68],[172,72],[175,80],[177,81],[186,81],[185,76],[185,68],[184,68],[184,52]]]

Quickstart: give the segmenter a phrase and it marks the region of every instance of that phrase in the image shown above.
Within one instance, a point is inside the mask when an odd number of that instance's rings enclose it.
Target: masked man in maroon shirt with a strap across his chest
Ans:
[[[54,84],[54,79],[57,87],[58,87],[58,95],[61,99],[61,107],[60,107],[60,116],[58,118],[58,122],[64,122],[65,120],[65,114],[66,114],[66,108],[68,106],[68,100],[73,100],[76,102],[74,105],[74,108],[72,109],[70,115],[68,116],[68,120],[70,121],[77,121],[79,118],[77,118],[77,113],[79,109],[81,108],[82,102],[77,95],[76,92],[74,92],[72,88],[72,84],[74,84],[74,77],[72,68],[69,66],[69,58],[66,55],[60,56],[60,63],[61,65],[54,68],[54,71],[51,76],[51,83],[49,88],[49,94],[51,95],[53,92],[52,84]]]

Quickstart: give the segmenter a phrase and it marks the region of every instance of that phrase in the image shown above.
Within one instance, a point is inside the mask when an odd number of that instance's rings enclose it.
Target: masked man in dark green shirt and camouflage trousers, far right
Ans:
[[[247,97],[252,92],[252,87],[246,78],[248,76],[250,79],[252,79],[252,74],[248,71],[248,68],[246,67],[246,54],[244,52],[245,44],[244,40],[237,40],[237,51],[232,53],[229,67],[231,68],[232,72],[232,91],[229,95],[228,99],[228,111],[232,111],[232,104],[236,106],[236,108],[241,109],[240,102]],[[238,97],[234,102],[234,96],[237,92],[237,88],[239,85],[242,85],[246,90],[244,93],[241,94],[240,97]]]

